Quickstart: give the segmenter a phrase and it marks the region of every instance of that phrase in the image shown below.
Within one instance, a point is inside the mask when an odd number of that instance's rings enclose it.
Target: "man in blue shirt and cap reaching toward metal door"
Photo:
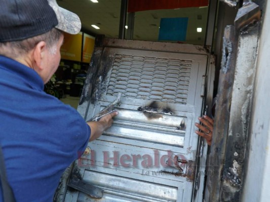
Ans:
[[[63,171],[118,113],[85,123],[43,91],[59,65],[62,32],[81,29],[78,16],[56,0],[0,0],[0,5],[0,164],[2,171],[6,167],[0,201],[10,197],[5,187],[16,201],[52,201]]]

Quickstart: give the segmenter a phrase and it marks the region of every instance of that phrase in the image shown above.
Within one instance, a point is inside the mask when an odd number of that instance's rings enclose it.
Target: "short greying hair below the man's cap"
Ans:
[[[60,30],[53,28],[49,32],[24,40],[0,42],[0,55],[16,59],[27,54],[40,41],[45,41],[49,51],[55,54],[56,44],[61,35],[62,32]]]

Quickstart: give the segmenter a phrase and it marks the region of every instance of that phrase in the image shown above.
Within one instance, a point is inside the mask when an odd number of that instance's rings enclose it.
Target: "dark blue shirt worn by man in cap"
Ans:
[[[0,144],[19,202],[52,201],[61,174],[90,136],[81,115],[43,89],[34,70],[0,56]]]

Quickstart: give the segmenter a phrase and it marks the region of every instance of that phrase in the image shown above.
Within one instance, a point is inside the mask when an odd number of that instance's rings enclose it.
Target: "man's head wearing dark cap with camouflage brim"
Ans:
[[[34,69],[48,82],[60,61],[62,32],[77,34],[80,18],[56,0],[1,0],[0,55]]]

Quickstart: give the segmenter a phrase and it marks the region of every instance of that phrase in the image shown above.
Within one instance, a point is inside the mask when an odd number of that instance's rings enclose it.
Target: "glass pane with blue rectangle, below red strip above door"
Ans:
[[[136,12],[133,39],[202,45],[207,17],[208,7]],[[201,32],[197,28],[201,28]]]

